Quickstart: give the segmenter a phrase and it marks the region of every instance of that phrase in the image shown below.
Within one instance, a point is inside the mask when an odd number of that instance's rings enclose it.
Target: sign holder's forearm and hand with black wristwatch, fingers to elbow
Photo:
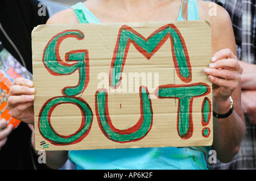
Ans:
[[[213,111],[225,114],[230,110],[232,96],[234,111],[223,119],[213,117],[213,149],[221,162],[230,162],[238,153],[241,140],[245,132],[245,122],[241,108],[240,78],[242,69],[236,57],[229,49],[224,49],[216,54],[217,61],[214,70],[208,73],[213,83]],[[227,59],[222,59],[225,56]],[[227,70],[230,68],[231,70]],[[221,70],[220,70],[221,69]]]

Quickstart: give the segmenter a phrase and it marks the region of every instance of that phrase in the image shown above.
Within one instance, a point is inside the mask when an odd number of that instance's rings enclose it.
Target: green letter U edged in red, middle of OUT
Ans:
[[[140,87],[141,118],[133,127],[125,130],[116,129],[108,111],[108,93],[106,90],[96,92],[96,115],[102,133],[112,141],[119,143],[141,140],[152,127],[153,112],[151,100],[146,87]]]

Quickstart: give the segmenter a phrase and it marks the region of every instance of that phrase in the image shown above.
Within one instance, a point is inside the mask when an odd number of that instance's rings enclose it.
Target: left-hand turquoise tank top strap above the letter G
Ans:
[[[75,11],[76,17],[80,23],[101,23],[83,3],[76,3],[76,5],[71,6],[71,8]]]

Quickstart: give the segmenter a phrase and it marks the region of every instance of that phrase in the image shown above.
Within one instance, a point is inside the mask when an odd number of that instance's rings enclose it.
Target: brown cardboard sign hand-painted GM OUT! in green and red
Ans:
[[[210,37],[206,21],[36,27],[36,149],[211,145]]]

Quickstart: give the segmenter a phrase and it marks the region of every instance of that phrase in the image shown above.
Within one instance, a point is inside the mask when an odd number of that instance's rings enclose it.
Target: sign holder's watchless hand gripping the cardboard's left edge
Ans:
[[[34,83],[30,79],[16,78],[8,94],[10,115],[24,123],[34,125]]]

